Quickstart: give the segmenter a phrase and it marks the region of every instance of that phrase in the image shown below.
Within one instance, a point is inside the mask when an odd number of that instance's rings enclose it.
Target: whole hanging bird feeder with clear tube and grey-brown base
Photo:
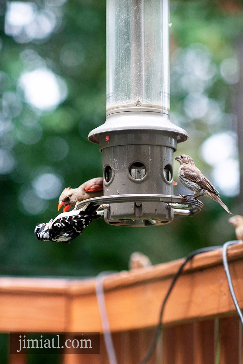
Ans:
[[[97,199],[111,225],[163,225],[185,203],[173,196],[173,153],[188,138],[169,114],[169,3],[107,0],[106,22],[106,122],[88,136],[102,152]]]

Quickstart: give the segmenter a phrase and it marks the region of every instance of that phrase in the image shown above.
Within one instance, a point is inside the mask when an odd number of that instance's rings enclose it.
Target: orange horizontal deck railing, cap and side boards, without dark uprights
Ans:
[[[243,308],[243,244],[230,247],[229,257],[235,293]],[[220,259],[220,251],[209,252],[187,265],[166,304],[165,325],[235,313]],[[111,331],[156,325],[171,274],[179,263],[106,278],[105,302]],[[94,280],[60,280],[54,293],[51,290],[58,280],[47,279],[46,287],[45,279],[33,280],[0,278],[0,330],[102,332]]]

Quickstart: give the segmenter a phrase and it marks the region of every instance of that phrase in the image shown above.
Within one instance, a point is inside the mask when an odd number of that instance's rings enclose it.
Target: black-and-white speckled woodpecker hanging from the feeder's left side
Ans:
[[[59,214],[49,222],[42,222],[35,227],[35,236],[41,241],[58,241],[70,243],[89,226],[92,220],[97,219],[99,206],[94,203],[86,204],[82,209]]]

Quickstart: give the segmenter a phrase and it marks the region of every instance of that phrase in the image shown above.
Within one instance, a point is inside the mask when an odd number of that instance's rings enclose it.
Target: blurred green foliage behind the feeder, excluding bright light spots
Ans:
[[[54,0],[36,1],[36,5],[40,9],[53,10],[56,7]],[[59,9],[63,17],[46,39],[18,43],[4,31],[0,34],[0,97],[4,92],[11,91],[22,104],[18,116],[8,116],[12,126],[1,139],[6,145],[6,135],[11,136],[11,153],[16,165],[11,173],[0,175],[0,274],[92,276],[102,270],[127,269],[129,256],[134,251],[145,253],[153,264],[157,264],[185,256],[195,248],[221,245],[234,238],[226,211],[206,198],[203,198],[204,209],[200,214],[193,218],[175,218],[167,226],[140,229],[115,227],[99,219],[70,245],[39,242],[35,238],[35,225],[49,221],[58,214],[58,198],[50,199],[48,208],[38,215],[28,214],[20,201],[21,191],[31,185],[38,168],[49,166],[55,170],[63,181],[63,188],[77,187],[87,179],[102,175],[101,153],[97,145],[87,141],[87,135],[105,122],[105,1],[67,0],[59,5]],[[237,53],[235,44],[243,29],[242,9],[228,12],[212,1],[173,1],[171,23],[172,122],[189,133],[189,140],[178,146],[176,155],[192,155],[199,168],[209,177],[210,167],[200,157],[201,143],[211,134],[235,130],[236,126],[223,120],[216,124],[208,124],[203,119],[188,120],[182,107],[187,93],[179,90],[178,75],[173,76],[176,74],[175,54],[190,47],[207,49],[213,64],[219,69],[220,62]],[[84,58],[77,66],[67,66],[60,61],[60,52],[67,43],[81,46]],[[67,99],[52,112],[32,108],[24,101],[17,86],[21,73],[30,66],[21,56],[24,50],[35,51],[47,67],[67,84]],[[223,112],[234,112],[235,85],[225,83],[219,72],[216,72],[205,93],[220,102]],[[180,117],[173,120],[173,113]],[[26,124],[26,119],[36,120],[42,129],[42,137],[34,144],[21,141],[22,134],[34,132]],[[61,161],[51,161],[45,150],[45,142],[52,136],[61,137],[68,144],[68,154]],[[175,180],[178,180],[176,172],[179,165],[176,163]],[[181,185],[178,184],[175,194],[180,189]],[[222,199],[233,213],[240,213],[234,199],[223,195]]]

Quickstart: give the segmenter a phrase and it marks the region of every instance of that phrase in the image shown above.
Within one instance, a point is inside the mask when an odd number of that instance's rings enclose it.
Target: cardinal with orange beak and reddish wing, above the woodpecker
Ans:
[[[78,201],[100,196],[103,196],[103,178],[92,178],[77,188],[65,188],[59,197],[58,210],[64,206],[63,212],[66,212]]]

